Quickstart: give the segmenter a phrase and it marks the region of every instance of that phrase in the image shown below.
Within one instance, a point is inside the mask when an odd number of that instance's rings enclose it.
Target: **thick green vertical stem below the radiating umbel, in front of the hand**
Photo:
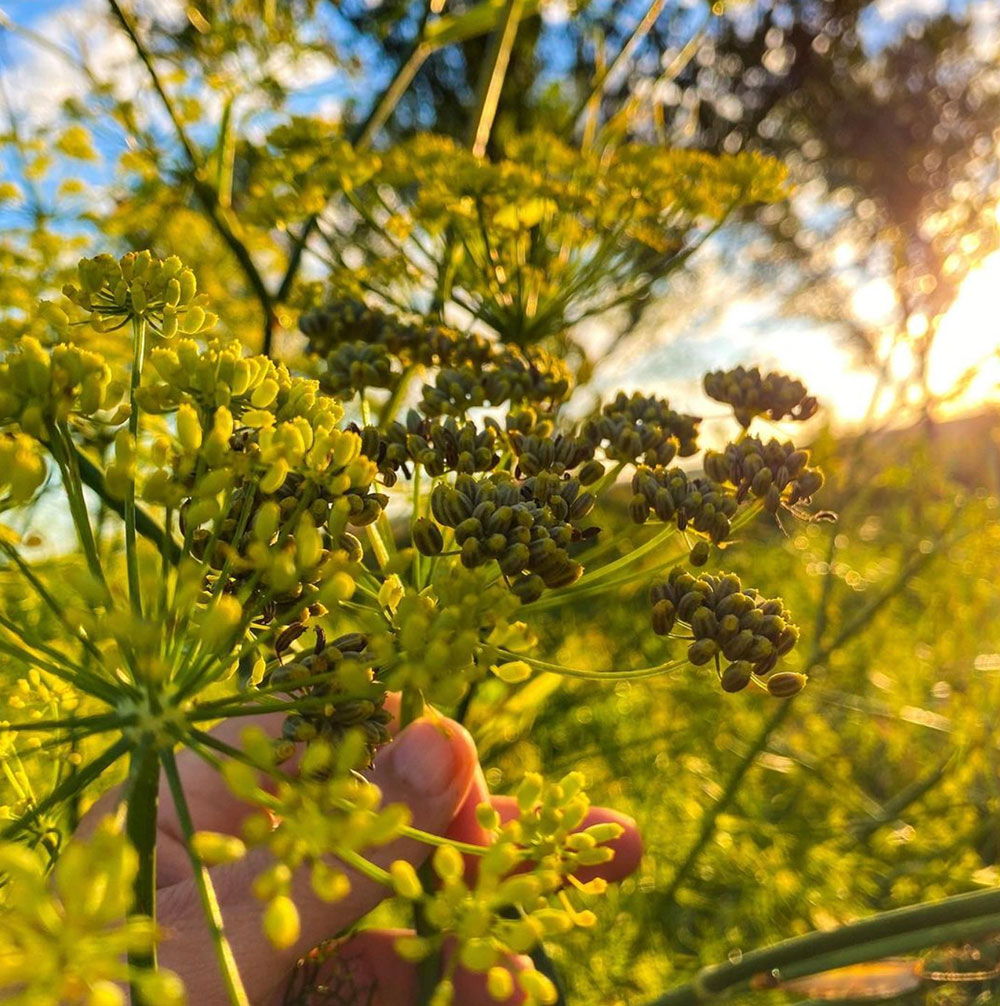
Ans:
[[[130,914],[146,915],[156,921],[156,818],[160,795],[160,765],[156,749],[144,743],[132,752],[126,788],[128,807],[125,833],[139,856],[139,870],[133,883],[135,896]],[[156,951],[129,954],[129,965],[139,971],[156,968]],[[133,984],[132,1002],[146,1006],[141,990]],[[148,1006],[155,1006],[149,1003]]]

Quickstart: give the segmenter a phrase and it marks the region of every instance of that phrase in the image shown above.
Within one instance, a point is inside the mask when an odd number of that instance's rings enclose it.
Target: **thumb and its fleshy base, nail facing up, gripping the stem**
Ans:
[[[381,791],[383,805],[405,804],[414,827],[440,835],[462,806],[477,764],[472,738],[458,723],[445,718],[419,719],[379,751],[367,776]],[[430,851],[415,839],[399,838],[366,855],[377,866],[387,868],[396,859],[419,866]],[[345,869],[351,881],[350,893],[328,904],[313,893],[309,870],[300,870],[293,881],[293,897],[299,908],[301,936],[294,947],[276,950],[264,938],[263,905],[251,893],[253,877],[269,861],[257,850],[239,863],[211,871],[251,1002],[270,1002],[300,957],[352,926],[388,893],[377,881]],[[342,868],[342,864],[337,865]],[[160,921],[171,937],[162,946],[162,963],[184,978],[192,1002],[224,1001],[190,875],[161,888],[160,906]]]

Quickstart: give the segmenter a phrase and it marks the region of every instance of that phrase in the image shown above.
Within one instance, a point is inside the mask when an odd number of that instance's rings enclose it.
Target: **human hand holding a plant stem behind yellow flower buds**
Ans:
[[[214,733],[220,740],[237,743],[241,731],[255,725],[277,736],[282,719],[280,713],[272,713],[241,721],[228,720]],[[177,763],[194,827],[199,831],[238,835],[242,819],[254,808],[234,796],[218,772],[192,751],[180,751]],[[457,841],[488,843],[489,835],[476,819],[480,804],[491,802],[503,820],[516,814],[512,798],[490,796],[472,738],[451,719],[423,718],[410,723],[378,752],[366,775],[378,786],[385,804],[402,803],[409,807],[414,827]],[[102,797],[85,818],[80,831],[92,830],[117,799],[116,792]],[[608,821],[625,829],[620,838],[610,843],[615,858],[600,867],[581,870],[577,874],[581,880],[595,876],[620,879],[638,864],[642,847],[631,819],[604,808],[593,808],[581,827]],[[184,980],[191,1006],[224,1006],[226,994],[181,834],[169,789],[161,780],[157,914],[166,939],[160,947],[160,964]],[[431,851],[415,839],[400,838],[370,850],[368,858],[383,868],[397,859],[419,867]],[[331,937],[349,930],[388,891],[382,884],[346,870],[351,880],[350,893],[329,904],[315,896],[308,876],[297,876],[293,896],[299,907],[301,936],[292,947],[279,950],[263,936],[263,905],[252,891],[253,879],[262,868],[262,855],[260,850],[251,852],[237,863],[214,867],[211,874],[226,935],[249,1001],[254,1006],[281,1006],[296,963]],[[313,981],[335,986],[337,1003],[409,1006],[418,998],[418,974],[412,964],[395,953],[393,944],[400,935],[400,931],[365,930],[347,937],[335,944],[329,955],[323,956]],[[529,958],[515,955],[506,960],[505,966],[512,972],[533,967]],[[485,976],[462,968],[455,975],[455,1001],[463,1006],[496,1006],[486,990]],[[508,1000],[518,1001],[516,996]]]

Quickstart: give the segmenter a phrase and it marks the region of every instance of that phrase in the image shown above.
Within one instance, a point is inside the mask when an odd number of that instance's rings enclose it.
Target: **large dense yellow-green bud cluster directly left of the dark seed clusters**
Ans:
[[[159,439],[141,497],[177,508],[192,553],[233,588],[253,579],[268,606],[302,610],[359,558],[347,526],[385,505],[361,438],[338,429],[342,409],[315,381],[235,343],[181,340],[150,363],[139,401],[173,411],[176,434]]]

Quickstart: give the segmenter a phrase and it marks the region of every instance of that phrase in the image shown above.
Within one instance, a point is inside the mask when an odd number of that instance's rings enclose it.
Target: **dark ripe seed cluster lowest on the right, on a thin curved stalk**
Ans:
[[[650,589],[653,631],[669,635],[676,623],[690,627],[693,641],[687,659],[696,667],[715,661],[725,691],[740,691],[761,681],[799,640],[781,598],[761,597],[743,589],[734,573],[694,576],[675,566]],[[724,670],[720,661],[729,663]],[[779,696],[793,695],[805,684],[794,672],[768,678],[766,687]]]

